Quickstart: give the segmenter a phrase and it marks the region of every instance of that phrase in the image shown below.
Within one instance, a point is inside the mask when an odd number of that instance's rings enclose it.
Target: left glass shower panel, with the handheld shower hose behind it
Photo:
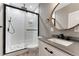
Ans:
[[[24,49],[24,11],[6,7],[6,53]]]

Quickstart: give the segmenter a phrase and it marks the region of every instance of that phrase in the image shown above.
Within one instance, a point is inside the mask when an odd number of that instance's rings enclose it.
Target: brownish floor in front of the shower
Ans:
[[[39,56],[39,48],[24,49],[4,56]]]

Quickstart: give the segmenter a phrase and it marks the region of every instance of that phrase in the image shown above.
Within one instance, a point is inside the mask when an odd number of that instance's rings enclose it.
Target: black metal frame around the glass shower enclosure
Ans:
[[[9,54],[9,53],[6,53],[6,7],[10,7],[10,8],[18,9],[21,11],[29,12],[32,14],[36,14],[38,16],[38,36],[39,36],[39,14],[38,13],[35,13],[33,11],[29,11],[29,10],[24,10],[24,9],[15,7],[15,6],[3,4],[3,55]],[[24,48],[24,49],[26,49],[26,48]],[[20,50],[23,50],[23,49],[20,49]],[[19,51],[19,50],[16,50],[16,51]],[[12,51],[10,53],[13,53],[16,51]]]

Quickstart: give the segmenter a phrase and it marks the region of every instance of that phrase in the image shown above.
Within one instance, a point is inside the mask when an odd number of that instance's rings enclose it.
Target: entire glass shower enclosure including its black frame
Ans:
[[[4,4],[4,54],[37,47],[38,35],[38,13]]]

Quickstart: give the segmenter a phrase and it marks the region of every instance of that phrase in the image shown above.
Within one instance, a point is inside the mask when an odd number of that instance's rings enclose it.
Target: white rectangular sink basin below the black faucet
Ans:
[[[62,40],[62,39],[57,39],[57,38],[51,38],[51,39],[48,39],[49,41],[52,41],[52,42],[55,42],[57,44],[61,44],[61,45],[64,45],[64,46],[69,46],[71,45],[73,42],[70,42],[70,41],[66,41],[66,40]]]

